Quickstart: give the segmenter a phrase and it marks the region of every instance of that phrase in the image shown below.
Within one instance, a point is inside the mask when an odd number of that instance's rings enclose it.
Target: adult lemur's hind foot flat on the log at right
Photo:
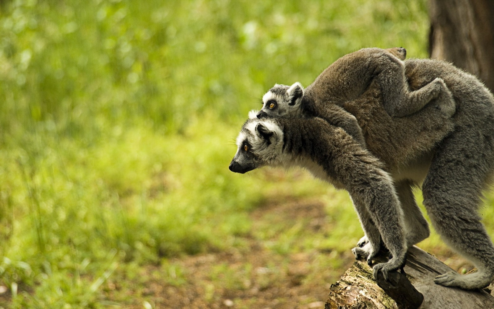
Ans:
[[[475,290],[488,286],[492,279],[492,275],[483,271],[472,272],[466,275],[450,271],[437,276],[434,279],[434,283],[443,286],[459,287],[465,290]]]

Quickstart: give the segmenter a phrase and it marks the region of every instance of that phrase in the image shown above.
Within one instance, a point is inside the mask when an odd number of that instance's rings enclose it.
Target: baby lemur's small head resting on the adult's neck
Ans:
[[[276,84],[262,97],[262,109],[257,114],[257,118],[300,116],[303,96],[304,88],[298,82],[291,86]]]

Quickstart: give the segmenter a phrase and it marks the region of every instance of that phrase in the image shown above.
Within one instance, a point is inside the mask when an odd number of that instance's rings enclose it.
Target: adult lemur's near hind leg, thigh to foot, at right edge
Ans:
[[[494,279],[494,246],[477,214],[486,179],[493,171],[493,144],[486,136],[489,132],[479,134],[458,126],[439,146],[422,186],[424,205],[436,230],[478,268],[466,275],[439,275],[434,280],[437,284],[477,289]]]

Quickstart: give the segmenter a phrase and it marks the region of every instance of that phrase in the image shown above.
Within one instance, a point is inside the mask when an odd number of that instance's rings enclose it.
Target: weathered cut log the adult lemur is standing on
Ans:
[[[365,261],[357,261],[336,283],[331,285],[325,309],[494,308],[494,297],[484,290],[465,291],[435,284],[434,277],[452,269],[415,246],[408,252],[407,265],[404,270],[413,287],[406,285],[400,287],[402,285],[400,283],[396,284],[397,289],[401,289],[399,293],[388,291],[398,301],[399,306],[372,279],[371,267]],[[398,275],[398,272],[396,274]],[[419,294],[423,295],[423,301],[418,299],[411,289],[420,292]]]

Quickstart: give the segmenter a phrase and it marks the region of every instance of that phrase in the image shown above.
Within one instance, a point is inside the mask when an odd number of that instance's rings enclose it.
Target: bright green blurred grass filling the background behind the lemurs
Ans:
[[[364,46],[425,57],[427,31],[425,0],[2,1],[0,283],[12,298],[0,306],[105,307],[116,269],[235,246],[272,195],[320,196],[334,225],[320,246],[348,250],[362,232],[344,192],[230,173],[234,138],[275,83],[306,86]]]

